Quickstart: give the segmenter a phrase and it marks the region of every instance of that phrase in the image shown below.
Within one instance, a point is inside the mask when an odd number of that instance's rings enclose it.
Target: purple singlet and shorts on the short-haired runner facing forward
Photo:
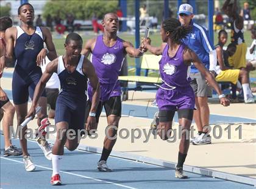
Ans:
[[[118,75],[121,70],[125,53],[123,40],[117,38],[112,47],[107,47],[103,35],[99,35],[91,55],[91,62],[101,83],[101,101],[121,95]],[[88,83],[88,97],[92,98],[92,87]]]

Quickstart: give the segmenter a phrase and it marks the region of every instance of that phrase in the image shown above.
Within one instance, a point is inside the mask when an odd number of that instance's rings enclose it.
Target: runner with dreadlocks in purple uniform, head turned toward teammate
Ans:
[[[160,75],[163,84],[157,91],[157,105],[159,108],[159,124],[157,134],[167,140],[171,135],[172,119],[175,111],[179,115],[179,125],[182,127],[182,138],[179,145],[179,156],[175,176],[187,179],[183,173],[188,147],[190,146],[190,126],[193,120],[195,97],[190,86],[188,67],[191,62],[205,76],[206,80],[219,94],[223,106],[229,106],[229,100],[221,94],[218,84],[212,74],[205,69],[196,53],[181,42],[190,32],[190,27],[181,26],[180,21],[169,18],[163,21],[161,36],[163,43],[160,47],[152,47],[149,40],[143,39],[143,47],[154,55],[162,55],[159,62]]]

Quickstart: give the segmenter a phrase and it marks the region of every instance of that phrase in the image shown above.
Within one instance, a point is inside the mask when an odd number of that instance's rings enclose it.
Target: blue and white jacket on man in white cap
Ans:
[[[190,25],[192,26],[192,30],[190,34],[188,34],[187,37],[182,41],[196,53],[202,63],[204,63],[205,67],[209,69],[209,52],[215,49],[213,47],[212,41],[210,41],[208,30],[202,26],[199,26],[193,21],[191,21]],[[191,73],[197,72],[199,72],[199,70],[197,70],[196,67],[192,64]]]

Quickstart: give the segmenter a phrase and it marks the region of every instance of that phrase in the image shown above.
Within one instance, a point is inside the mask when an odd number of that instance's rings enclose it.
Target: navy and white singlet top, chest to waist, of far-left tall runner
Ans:
[[[43,49],[43,32],[40,27],[36,27],[32,35],[28,35],[20,26],[16,26],[16,29],[15,69],[22,70],[29,75],[37,67],[37,55]]]

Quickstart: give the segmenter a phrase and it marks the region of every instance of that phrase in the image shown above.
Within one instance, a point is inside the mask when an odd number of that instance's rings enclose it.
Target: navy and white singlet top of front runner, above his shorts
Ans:
[[[87,99],[87,75],[84,74],[82,66],[84,55],[81,55],[79,63],[74,72],[68,72],[63,62],[63,56],[59,57],[57,74],[60,79],[59,95]]]

